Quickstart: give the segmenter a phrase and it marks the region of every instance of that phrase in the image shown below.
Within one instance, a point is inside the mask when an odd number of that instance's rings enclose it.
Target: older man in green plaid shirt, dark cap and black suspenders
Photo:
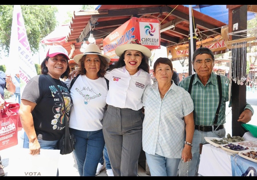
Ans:
[[[197,173],[200,158],[199,144],[205,142],[204,137],[225,137],[225,108],[226,102],[229,99],[229,79],[220,75],[220,88],[222,89],[220,102],[218,77],[212,72],[214,55],[210,49],[200,47],[194,51],[192,64],[196,74],[186,77],[179,83],[180,87],[183,87],[190,93],[194,103],[195,131],[192,141],[192,161],[188,162],[188,176],[195,176]],[[191,88],[189,88],[190,80],[192,81]],[[218,107],[220,107],[220,109]],[[246,104],[238,121],[248,123],[253,113],[252,107]],[[216,116],[216,114],[218,115]],[[183,168],[183,163],[180,162],[179,176],[185,174],[185,172],[183,173],[184,169],[187,168]]]

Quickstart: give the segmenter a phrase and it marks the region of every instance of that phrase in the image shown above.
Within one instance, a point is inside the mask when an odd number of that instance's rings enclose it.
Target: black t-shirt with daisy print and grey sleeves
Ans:
[[[64,96],[66,115],[70,116],[72,99],[66,84],[53,79]],[[46,75],[33,77],[25,86],[21,99],[26,99],[37,105],[32,111],[34,127],[38,139],[55,141],[61,139],[65,130],[64,109],[61,97],[57,94],[55,85]]]

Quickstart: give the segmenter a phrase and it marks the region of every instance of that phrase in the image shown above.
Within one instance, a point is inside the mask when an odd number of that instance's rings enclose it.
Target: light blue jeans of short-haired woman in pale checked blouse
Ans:
[[[167,158],[145,153],[151,176],[176,176],[180,158]]]

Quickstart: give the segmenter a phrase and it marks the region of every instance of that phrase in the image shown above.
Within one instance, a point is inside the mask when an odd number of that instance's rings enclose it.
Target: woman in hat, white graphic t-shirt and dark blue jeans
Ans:
[[[69,79],[65,81],[71,90],[74,106],[69,124],[76,139],[73,152],[79,175],[95,176],[105,145],[102,119],[106,109],[108,81],[104,74],[110,57],[102,55],[96,44],[89,44],[83,54],[74,57],[74,61],[81,66],[80,76],[75,82],[73,79],[73,83]]]

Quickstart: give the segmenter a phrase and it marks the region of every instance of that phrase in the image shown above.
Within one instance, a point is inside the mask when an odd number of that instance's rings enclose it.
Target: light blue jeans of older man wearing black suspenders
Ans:
[[[193,141],[192,141],[192,160],[188,162],[188,176],[195,176],[197,175],[198,172],[198,166],[200,163],[200,143],[205,143],[204,137],[218,137],[218,138],[223,138],[226,135],[226,130],[225,128],[220,129],[218,131],[212,132],[203,132],[203,131],[198,131],[197,129],[194,130],[194,136],[193,136]],[[180,161],[179,164],[179,176],[183,176],[183,174],[186,174],[186,172],[183,173],[183,163],[182,160]],[[186,168],[184,168],[186,169]]]

